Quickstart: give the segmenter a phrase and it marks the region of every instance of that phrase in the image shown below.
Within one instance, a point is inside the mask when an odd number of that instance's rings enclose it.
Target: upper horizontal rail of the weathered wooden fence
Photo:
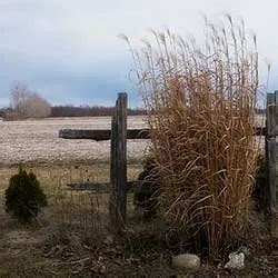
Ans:
[[[255,136],[266,136],[266,128],[256,127]],[[61,129],[59,137],[63,139],[91,139],[96,141],[110,140],[110,129]],[[149,129],[128,129],[128,139],[150,139]]]

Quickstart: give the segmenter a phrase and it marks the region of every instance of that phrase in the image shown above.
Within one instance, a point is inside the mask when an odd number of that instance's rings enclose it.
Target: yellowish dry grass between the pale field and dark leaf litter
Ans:
[[[53,232],[63,234],[78,231],[82,238],[100,234],[107,228],[109,193],[92,193],[89,191],[69,191],[67,183],[72,182],[108,182],[109,163],[91,165],[26,165],[28,172],[32,171],[40,181],[48,197]],[[128,166],[128,179],[135,180],[141,170],[140,165]],[[4,195],[9,179],[18,172],[17,166],[0,167],[0,197]],[[132,210],[132,196],[128,196]],[[48,218],[48,216],[47,216]],[[62,232],[60,232],[62,231]]]

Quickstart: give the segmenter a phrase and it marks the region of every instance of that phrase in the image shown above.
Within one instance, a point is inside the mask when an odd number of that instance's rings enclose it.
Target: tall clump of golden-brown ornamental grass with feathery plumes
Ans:
[[[165,219],[216,257],[246,230],[258,146],[256,37],[227,16],[198,47],[152,31],[132,50]]]

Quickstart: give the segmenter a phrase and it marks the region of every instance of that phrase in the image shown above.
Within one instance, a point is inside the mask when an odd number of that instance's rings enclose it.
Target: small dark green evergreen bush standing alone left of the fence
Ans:
[[[47,197],[37,177],[26,170],[11,177],[6,190],[6,211],[26,224],[37,217],[41,207],[47,206]]]

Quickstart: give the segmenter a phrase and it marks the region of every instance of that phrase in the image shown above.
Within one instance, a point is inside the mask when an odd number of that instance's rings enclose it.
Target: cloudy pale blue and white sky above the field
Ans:
[[[202,33],[202,14],[244,18],[257,34],[261,83],[278,90],[277,0],[0,0],[0,107],[14,82],[52,105],[113,105],[118,92],[141,105],[129,79],[135,46],[149,29]],[[267,82],[267,64],[271,64]]]

